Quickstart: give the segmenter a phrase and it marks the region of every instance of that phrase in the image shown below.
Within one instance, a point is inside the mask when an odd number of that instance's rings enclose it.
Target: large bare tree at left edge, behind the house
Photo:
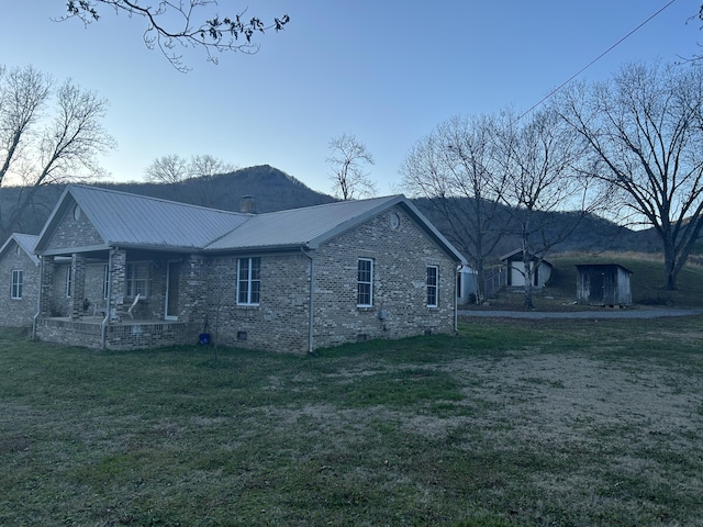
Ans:
[[[41,186],[102,175],[96,157],[115,145],[101,123],[107,105],[70,80],[55,87],[31,66],[0,68],[0,187],[23,186],[16,203],[0,210],[2,239]]]

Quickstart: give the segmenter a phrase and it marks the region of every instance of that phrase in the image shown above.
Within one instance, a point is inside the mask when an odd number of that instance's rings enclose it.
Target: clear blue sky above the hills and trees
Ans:
[[[152,2],[156,3],[156,2]],[[375,158],[378,193],[403,192],[410,148],[456,115],[523,112],[587,67],[600,81],[632,61],[703,53],[692,0],[220,0],[290,22],[257,36],[257,54],[185,49],[177,71],[142,40],[146,22],[101,8],[87,27],[56,22],[65,0],[0,0],[0,64],[71,78],[109,101],[118,148],[100,157],[110,181],[142,181],[156,159],[209,154],[271,165],[332,193],[330,141],[356,136]]]

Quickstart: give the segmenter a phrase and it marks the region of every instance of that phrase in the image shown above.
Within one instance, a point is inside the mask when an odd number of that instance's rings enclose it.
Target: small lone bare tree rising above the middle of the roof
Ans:
[[[328,147],[332,155],[327,164],[332,167],[330,179],[334,183],[335,195],[345,201],[376,195],[376,183],[364,171],[366,165],[373,165],[373,157],[366,145],[345,133],[332,138]]]

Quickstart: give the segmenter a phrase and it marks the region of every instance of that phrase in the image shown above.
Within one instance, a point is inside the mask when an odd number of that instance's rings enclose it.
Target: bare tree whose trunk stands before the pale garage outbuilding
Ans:
[[[554,106],[522,120],[507,112],[502,122],[496,138],[507,177],[500,199],[510,206],[522,243],[524,306],[532,310],[534,280],[545,257],[606,194],[588,177],[583,144]]]

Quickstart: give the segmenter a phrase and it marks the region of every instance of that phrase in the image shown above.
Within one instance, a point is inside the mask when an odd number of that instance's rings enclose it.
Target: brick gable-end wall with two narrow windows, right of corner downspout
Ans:
[[[317,251],[316,347],[454,332],[456,264],[402,210],[394,212],[398,227],[390,212],[381,214]],[[357,307],[359,258],[373,260],[372,307]],[[437,307],[427,307],[427,266],[439,271]]]

